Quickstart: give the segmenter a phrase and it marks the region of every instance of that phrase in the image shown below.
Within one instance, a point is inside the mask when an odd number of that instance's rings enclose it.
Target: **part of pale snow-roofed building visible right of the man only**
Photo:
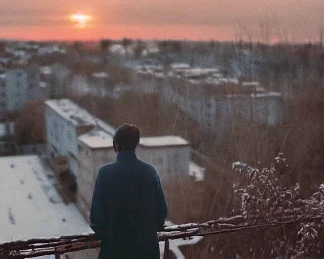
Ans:
[[[168,219],[176,223],[192,216],[190,151],[190,143],[179,136],[157,136],[141,138],[136,152],[139,159],[156,167],[168,201]]]

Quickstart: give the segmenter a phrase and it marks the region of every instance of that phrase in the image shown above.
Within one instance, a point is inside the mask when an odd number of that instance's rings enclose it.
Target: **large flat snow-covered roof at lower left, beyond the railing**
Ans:
[[[2,157],[0,163],[0,243],[91,231],[76,206],[63,202],[41,158]]]

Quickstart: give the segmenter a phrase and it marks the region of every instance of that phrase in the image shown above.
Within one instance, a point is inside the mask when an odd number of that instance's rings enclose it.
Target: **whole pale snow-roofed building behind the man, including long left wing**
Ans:
[[[47,100],[45,106],[47,156],[59,174],[68,163],[65,169],[71,171],[77,186],[75,201],[89,219],[97,171],[116,158],[115,129],[68,99]],[[158,170],[170,208],[168,219],[176,223],[193,217],[191,198],[195,206],[202,202],[190,196],[195,182],[189,175],[190,152],[190,143],[179,136],[142,137],[136,149],[139,159]]]

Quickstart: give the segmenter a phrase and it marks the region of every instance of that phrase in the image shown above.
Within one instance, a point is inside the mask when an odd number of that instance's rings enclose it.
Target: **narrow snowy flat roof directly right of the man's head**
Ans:
[[[188,146],[189,141],[180,136],[156,136],[156,137],[142,137],[140,139],[141,146],[144,147],[161,147],[161,146]]]

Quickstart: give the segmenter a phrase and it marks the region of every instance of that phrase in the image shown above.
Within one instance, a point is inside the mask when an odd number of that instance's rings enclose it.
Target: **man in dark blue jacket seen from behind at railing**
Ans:
[[[139,139],[136,126],[117,128],[116,162],[98,170],[90,226],[102,240],[99,259],[159,258],[157,231],[168,207],[155,167],[136,157]]]

